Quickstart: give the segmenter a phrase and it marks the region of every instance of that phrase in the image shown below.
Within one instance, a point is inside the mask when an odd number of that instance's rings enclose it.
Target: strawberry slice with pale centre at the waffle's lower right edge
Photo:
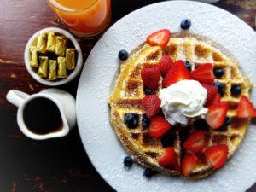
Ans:
[[[215,169],[224,166],[229,148],[224,144],[213,145],[204,151],[204,154]]]

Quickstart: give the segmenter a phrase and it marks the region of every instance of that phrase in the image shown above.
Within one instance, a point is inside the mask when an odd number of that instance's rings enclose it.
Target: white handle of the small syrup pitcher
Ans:
[[[20,104],[24,102],[27,96],[29,95],[20,90],[9,90],[6,99],[16,107],[20,107]]]

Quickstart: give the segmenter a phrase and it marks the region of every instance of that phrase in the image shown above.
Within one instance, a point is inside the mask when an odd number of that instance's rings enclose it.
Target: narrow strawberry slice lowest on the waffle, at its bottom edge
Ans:
[[[195,154],[185,154],[181,163],[181,170],[184,177],[188,177],[190,172],[194,169],[197,163],[197,156]]]

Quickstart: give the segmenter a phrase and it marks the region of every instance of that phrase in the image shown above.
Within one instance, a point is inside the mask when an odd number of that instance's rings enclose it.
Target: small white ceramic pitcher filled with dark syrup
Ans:
[[[31,96],[20,90],[9,90],[6,98],[9,102],[18,107],[17,122],[20,127],[20,131],[32,139],[43,140],[53,137],[64,137],[76,125],[75,99],[72,95],[64,90],[42,90],[41,92]],[[60,130],[51,131],[46,134],[38,134],[31,131],[26,126],[26,123],[24,122],[24,109],[26,108],[27,103],[31,102],[32,100],[37,100],[38,98],[44,98],[55,103],[55,106],[59,109],[62,120]],[[40,108],[38,108],[38,110],[40,110]]]

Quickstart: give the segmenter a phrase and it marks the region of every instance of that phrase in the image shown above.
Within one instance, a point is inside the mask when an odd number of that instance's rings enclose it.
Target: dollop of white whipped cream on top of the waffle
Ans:
[[[204,119],[207,108],[207,90],[195,80],[182,80],[160,90],[161,108],[171,125],[189,125],[195,119]]]

